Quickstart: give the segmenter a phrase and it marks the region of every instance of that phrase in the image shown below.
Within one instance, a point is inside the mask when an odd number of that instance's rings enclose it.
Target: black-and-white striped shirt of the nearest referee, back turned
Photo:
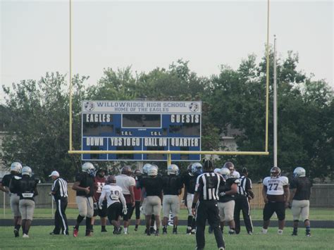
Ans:
[[[195,192],[199,193],[199,201],[218,201],[219,186],[224,185],[223,176],[207,172],[197,177]]]

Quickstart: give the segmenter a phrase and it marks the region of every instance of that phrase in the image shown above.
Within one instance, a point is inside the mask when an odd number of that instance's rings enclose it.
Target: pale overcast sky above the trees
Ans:
[[[1,1],[1,85],[69,73],[68,1]],[[333,87],[333,1],[271,1],[278,55]],[[74,1],[73,73],[93,85],[103,69],[148,72],[183,58],[198,75],[264,56],[266,1]],[[1,88],[0,100],[3,100]]]

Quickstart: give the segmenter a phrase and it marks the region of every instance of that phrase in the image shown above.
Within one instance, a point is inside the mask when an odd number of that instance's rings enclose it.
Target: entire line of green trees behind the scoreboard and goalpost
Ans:
[[[233,161],[237,170],[247,167],[253,180],[268,175],[273,165],[273,52],[270,55],[269,156],[220,156],[216,167]],[[278,166],[290,175],[297,166],[311,178],[334,177],[333,89],[324,80],[314,80],[297,70],[298,54],[289,51],[278,58]],[[266,56],[256,63],[249,55],[237,69],[222,65],[218,75],[199,77],[187,61],[178,60],[168,68],[133,73],[130,67],[105,68],[94,86],[89,77],[73,76],[73,148],[81,149],[82,100],[200,100],[202,110],[202,150],[227,150],[221,135],[238,131],[238,151],[264,151]],[[1,155],[7,167],[12,161],[30,165],[35,174],[47,180],[57,169],[68,180],[80,170],[80,156],[69,155],[68,82],[66,75],[46,73],[40,80],[21,80],[3,86],[5,104],[0,107],[1,125],[6,130]],[[116,171],[126,162],[99,162]],[[129,163],[133,164],[133,163]],[[161,170],[166,163],[157,162]],[[178,163],[181,170],[186,162]]]

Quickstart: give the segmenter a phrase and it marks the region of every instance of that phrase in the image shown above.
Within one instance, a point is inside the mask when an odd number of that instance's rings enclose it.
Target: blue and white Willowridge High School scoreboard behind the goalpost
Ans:
[[[82,101],[82,150],[201,151],[201,101]],[[200,161],[172,154],[172,161]],[[167,161],[166,154],[82,154],[89,161]]]

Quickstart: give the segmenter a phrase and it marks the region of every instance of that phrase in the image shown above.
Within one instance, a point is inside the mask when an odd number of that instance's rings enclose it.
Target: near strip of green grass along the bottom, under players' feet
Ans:
[[[0,249],[194,249],[194,235],[185,235],[185,227],[178,227],[178,235],[160,235],[159,237],[144,235],[144,227],[138,232],[130,228],[130,235],[112,235],[101,233],[99,227],[94,227],[93,237],[84,237],[84,228],[80,227],[79,237],[64,235],[49,235],[52,227],[32,226],[30,238],[13,237],[12,227],[0,227]],[[243,230],[243,229],[242,229]],[[207,230],[206,230],[207,231]],[[291,228],[286,228],[283,235],[277,235],[277,228],[269,227],[267,235],[259,233],[260,228],[254,228],[254,235],[246,235],[245,230],[240,235],[225,235],[226,249],[333,249],[333,229],[313,229],[312,237],[305,237],[304,229],[300,228],[299,236],[290,236]],[[171,227],[168,227],[171,232]],[[213,235],[206,233],[206,249],[217,249]]]

